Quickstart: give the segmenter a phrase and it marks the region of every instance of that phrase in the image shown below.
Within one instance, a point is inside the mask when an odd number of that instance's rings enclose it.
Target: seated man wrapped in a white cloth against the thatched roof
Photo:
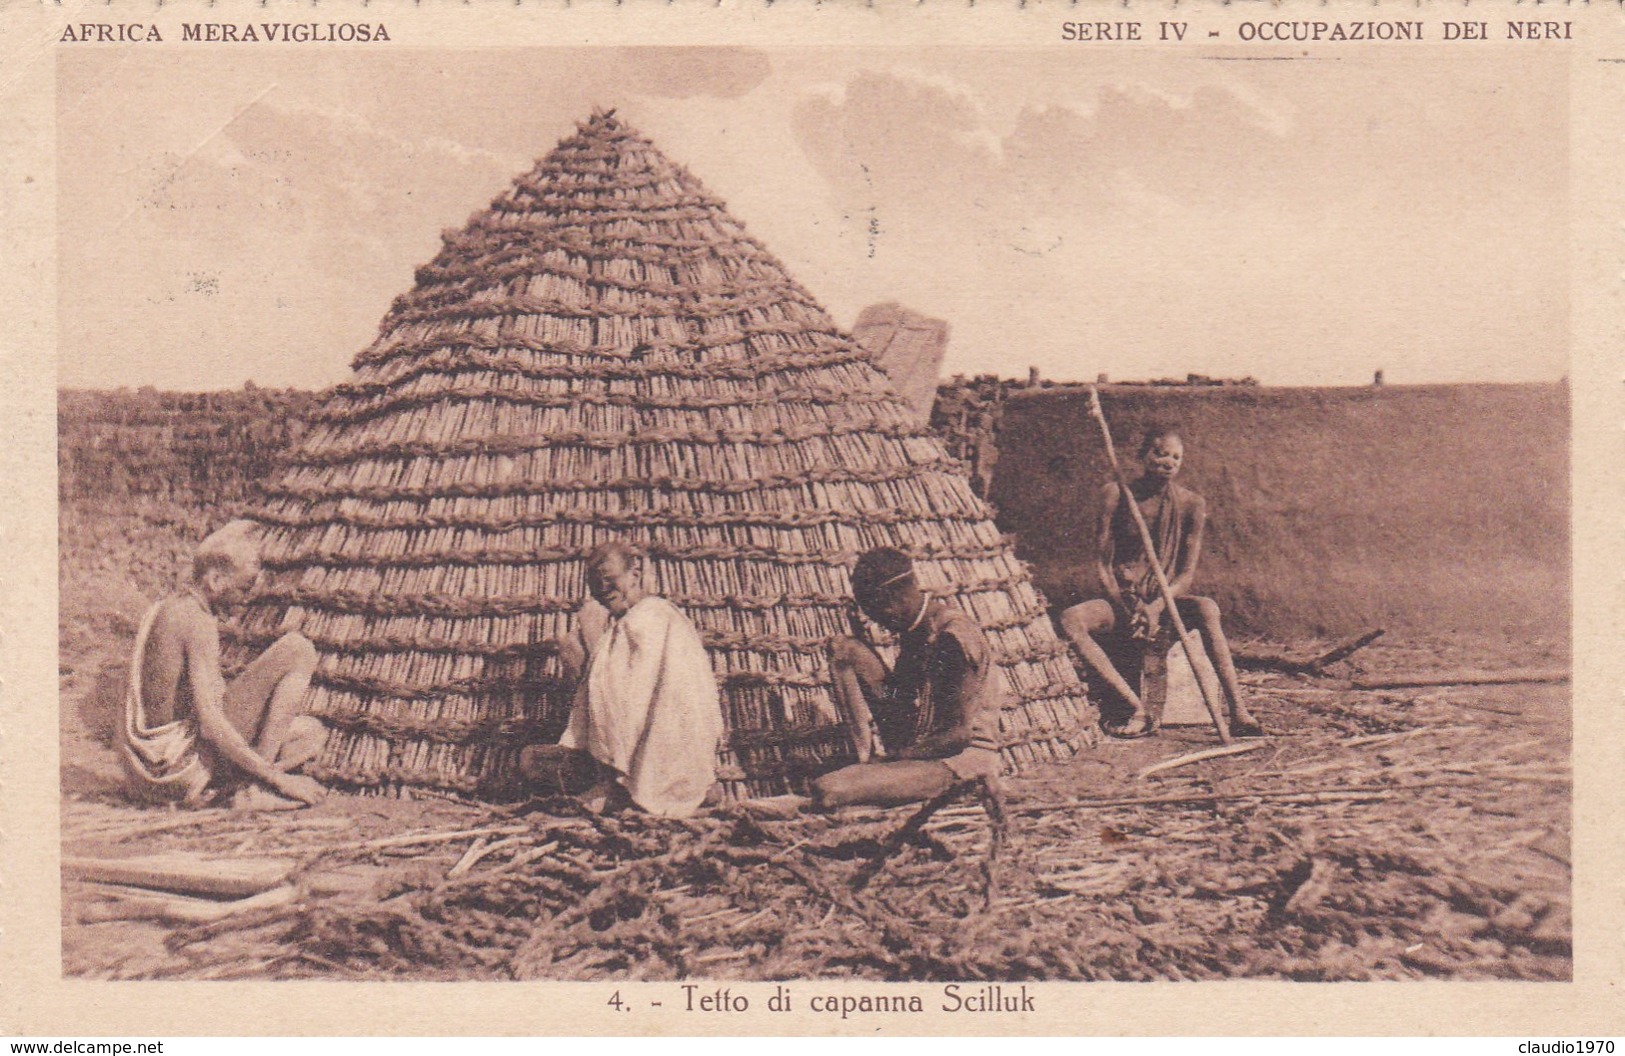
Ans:
[[[642,556],[626,543],[587,556],[587,590],[603,609],[585,606],[580,640],[559,648],[575,684],[570,723],[559,744],[520,752],[520,773],[593,809],[629,798],[650,814],[694,814],[717,781],[722,739],[705,643],[674,604],[644,590]]]

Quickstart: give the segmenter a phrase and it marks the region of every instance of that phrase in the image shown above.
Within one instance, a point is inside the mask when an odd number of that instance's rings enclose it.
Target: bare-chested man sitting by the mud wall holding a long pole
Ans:
[[[1263,734],[1258,720],[1242,700],[1242,684],[1235,676],[1230,643],[1219,624],[1219,606],[1211,598],[1190,595],[1196,578],[1196,562],[1202,554],[1202,528],[1207,504],[1194,491],[1175,484],[1185,463],[1185,442],[1176,429],[1150,429],[1139,448],[1144,474],[1129,484],[1134,500],[1150,528],[1157,559],[1168,577],[1170,593],[1180,606],[1186,625],[1199,629],[1224,684],[1230,712],[1230,733],[1238,738]],[[1095,526],[1095,573],[1102,596],[1061,612],[1061,630],[1077,647],[1084,660],[1129,705],[1129,716],[1120,726],[1107,728],[1118,738],[1141,738],[1152,733],[1150,715],[1139,694],[1118,673],[1095,635],[1128,629],[1136,638],[1154,638],[1162,627],[1165,603],[1157,588],[1150,559],[1141,541],[1128,504],[1116,481],[1102,491],[1100,520]]]

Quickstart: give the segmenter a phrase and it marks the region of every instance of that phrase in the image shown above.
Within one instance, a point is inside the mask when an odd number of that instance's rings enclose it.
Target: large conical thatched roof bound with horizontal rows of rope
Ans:
[[[315,642],[323,775],[500,798],[569,700],[552,643],[624,538],[705,635],[734,794],[843,759],[826,647],[900,546],[1022,697],[1012,767],[1087,736],[1043,601],[962,468],[699,180],[613,114],[445,236],[254,515],[242,645]]]

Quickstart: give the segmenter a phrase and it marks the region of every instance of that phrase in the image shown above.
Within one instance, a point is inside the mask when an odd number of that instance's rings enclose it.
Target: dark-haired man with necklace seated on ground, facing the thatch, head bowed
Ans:
[[[858,762],[817,778],[814,804],[897,806],[998,777],[1008,690],[982,629],[959,608],[926,596],[913,562],[890,547],[858,559],[852,593],[869,619],[899,635],[897,666],[887,671],[858,638],[832,647],[835,703],[853,731]]]

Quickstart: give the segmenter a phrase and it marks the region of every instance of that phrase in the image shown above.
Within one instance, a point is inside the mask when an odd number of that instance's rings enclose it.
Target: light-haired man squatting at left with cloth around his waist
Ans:
[[[286,634],[228,686],[216,608],[260,573],[250,522],[203,539],[192,585],[154,604],[135,638],[120,755],[148,798],[198,806],[250,781],[239,806],[299,807],[327,790],[294,773],[322,751],[327,729],[301,715],[315,647]]]

